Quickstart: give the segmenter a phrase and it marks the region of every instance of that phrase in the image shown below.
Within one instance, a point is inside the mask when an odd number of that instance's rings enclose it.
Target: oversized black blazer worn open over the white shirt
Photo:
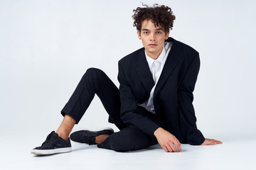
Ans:
[[[173,38],[167,41],[173,42],[173,45],[156,84],[154,109],[157,118],[163,123],[162,128],[171,132],[181,143],[201,145],[205,138],[196,127],[192,104],[200,67],[199,54]],[[142,114],[142,108],[138,106],[149,98],[154,86],[144,47],[123,57],[118,66],[123,122],[154,137],[154,131],[161,125]]]

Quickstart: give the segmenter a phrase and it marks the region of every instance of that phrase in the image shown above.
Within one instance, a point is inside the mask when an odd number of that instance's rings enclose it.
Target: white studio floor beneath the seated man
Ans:
[[[255,169],[255,134],[220,135],[223,145],[182,145],[166,153],[159,145],[114,152],[73,142],[73,152],[38,157],[31,149],[45,137],[31,132],[1,135],[0,169]]]

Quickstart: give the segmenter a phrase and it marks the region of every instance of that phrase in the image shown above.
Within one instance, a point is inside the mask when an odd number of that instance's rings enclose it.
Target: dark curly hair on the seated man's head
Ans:
[[[142,21],[147,19],[151,19],[155,27],[163,27],[165,33],[168,33],[170,29],[172,30],[174,26],[175,16],[169,6],[158,6],[158,4],[154,4],[153,7],[149,7],[144,4],[142,4],[142,6],[146,7],[138,7],[133,10],[133,26],[136,26],[137,30],[142,30]]]

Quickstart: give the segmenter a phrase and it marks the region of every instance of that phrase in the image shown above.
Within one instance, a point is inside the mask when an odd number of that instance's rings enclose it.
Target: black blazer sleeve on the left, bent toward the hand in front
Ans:
[[[119,94],[121,100],[121,119],[129,127],[134,127],[146,135],[154,137],[154,131],[159,128],[159,125],[154,123],[153,120],[147,118],[142,114],[142,111],[138,109],[137,98],[134,96],[129,81],[124,76],[122,65],[118,63],[118,80],[119,80]],[[129,71],[127,71],[129,72]]]

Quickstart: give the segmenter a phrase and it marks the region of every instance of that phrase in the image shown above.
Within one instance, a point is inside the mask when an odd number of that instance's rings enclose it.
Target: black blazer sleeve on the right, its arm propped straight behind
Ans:
[[[201,145],[205,140],[201,131],[196,127],[196,115],[192,103],[199,67],[200,59],[197,52],[178,86],[178,111],[182,120],[181,129],[183,128],[190,145]]]

